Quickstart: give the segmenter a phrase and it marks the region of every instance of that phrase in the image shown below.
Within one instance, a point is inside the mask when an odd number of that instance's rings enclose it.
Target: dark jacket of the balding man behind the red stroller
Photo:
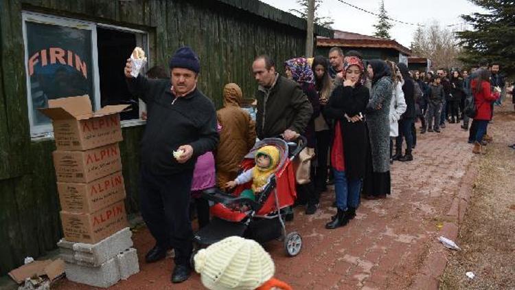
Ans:
[[[297,82],[277,75],[274,85],[270,89],[260,86],[255,97],[258,138],[277,137],[286,129],[304,133],[313,108]]]

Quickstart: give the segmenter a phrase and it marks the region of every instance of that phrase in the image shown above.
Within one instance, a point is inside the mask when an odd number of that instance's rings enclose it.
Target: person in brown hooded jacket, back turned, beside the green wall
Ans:
[[[216,179],[223,188],[238,176],[240,163],[255,144],[255,122],[240,108],[243,100],[240,86],[230,83],[223,89],[224,107],[216,111],[220,126],[220,143],[216,148]]]

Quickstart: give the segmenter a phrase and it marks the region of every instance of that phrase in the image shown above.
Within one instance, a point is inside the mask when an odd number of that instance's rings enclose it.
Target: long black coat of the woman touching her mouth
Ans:
[[[367,127],[365,122],[348,122],[349,117],[365,114],[369,100],[369,91],[364,86],[343,87],[340,85],[332,92],[328,104],[324,108],[326,118],[332,120],[331,144],[334,141],[336,121],[341,124],[343,137],[343,154],[345,157],[345,175],[350,179],[360,179],[365,175],[365,159],[367,157]]]

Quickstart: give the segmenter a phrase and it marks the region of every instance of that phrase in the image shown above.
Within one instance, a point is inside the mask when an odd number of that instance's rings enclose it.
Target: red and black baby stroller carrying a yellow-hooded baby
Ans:
[[[258,243],[266,243],[273,239],[284,241],[284,250],[288,256],[297,256],[302,247],[302,238],[297,232],[286,233],[284,219],[286,208],[297,198],[295,190],[295,170],[293,159],[306,147],[306,138],[299,137],[297,142],[289,142],[279,138],[267,138],[257,142],[251,152],[244,157],[242,169],[254,166],[255,153],[266,145],[279,149],[280,161],[270,182],[253,201],[239,197],[240,193],[250,188],[252,181],[235,188],[232,194],[222,192],[218,188],[204,190],[203,197],[214,202],[211,206],[213,219],[194,235],[199,245],[211,245],[228,236],[251,238]],[[235,210],[231,205],[247,205],[247,212]]]

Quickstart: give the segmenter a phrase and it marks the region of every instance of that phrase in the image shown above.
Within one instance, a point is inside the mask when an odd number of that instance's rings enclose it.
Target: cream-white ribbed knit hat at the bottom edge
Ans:
[[[195,271],[210,290],[251,290],[275,272],[271,256],[253,240],[229,236],[201,249],[194,257]]]

